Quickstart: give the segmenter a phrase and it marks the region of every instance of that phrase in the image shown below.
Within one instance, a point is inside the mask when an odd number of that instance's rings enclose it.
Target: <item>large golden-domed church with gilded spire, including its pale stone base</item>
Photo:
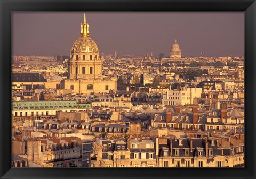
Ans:
[[[89,37],[89,24],[81,23],[81,37],[73,44],[68,62],[65,89],[74,93],[109,92],[116,90],[117,79],[102,76],[102,61],[95,41]]]

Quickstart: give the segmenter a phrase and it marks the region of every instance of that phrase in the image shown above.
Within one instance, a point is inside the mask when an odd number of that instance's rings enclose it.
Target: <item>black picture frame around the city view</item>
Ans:
[[[1,178],[255,178],[255,1],[0,0],[0,2]],[[244,11],[245,168],[11,168],[11,13],[13,11]]]

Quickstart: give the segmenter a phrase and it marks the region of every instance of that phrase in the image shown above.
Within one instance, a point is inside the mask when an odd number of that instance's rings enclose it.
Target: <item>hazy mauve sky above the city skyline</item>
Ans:
[[[244,12],[86,12],[105,54],[153,55],[178,40],[182,56],[244,56]],[[83,12],[14,12],[13,55],[69,55]]]

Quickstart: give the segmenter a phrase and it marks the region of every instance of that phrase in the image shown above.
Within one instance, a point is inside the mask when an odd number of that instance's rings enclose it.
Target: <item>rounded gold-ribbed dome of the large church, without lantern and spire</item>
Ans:
[[[79,37],[74,42],[70,53],[99,53],[99,49],[90,37]]]

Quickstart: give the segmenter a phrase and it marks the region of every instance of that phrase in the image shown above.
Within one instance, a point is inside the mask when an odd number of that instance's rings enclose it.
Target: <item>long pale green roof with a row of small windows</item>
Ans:
[[[35,109],[91,109],[91,104],[76,103],[76,101],[26,101],[12,102],[12,110]]]

